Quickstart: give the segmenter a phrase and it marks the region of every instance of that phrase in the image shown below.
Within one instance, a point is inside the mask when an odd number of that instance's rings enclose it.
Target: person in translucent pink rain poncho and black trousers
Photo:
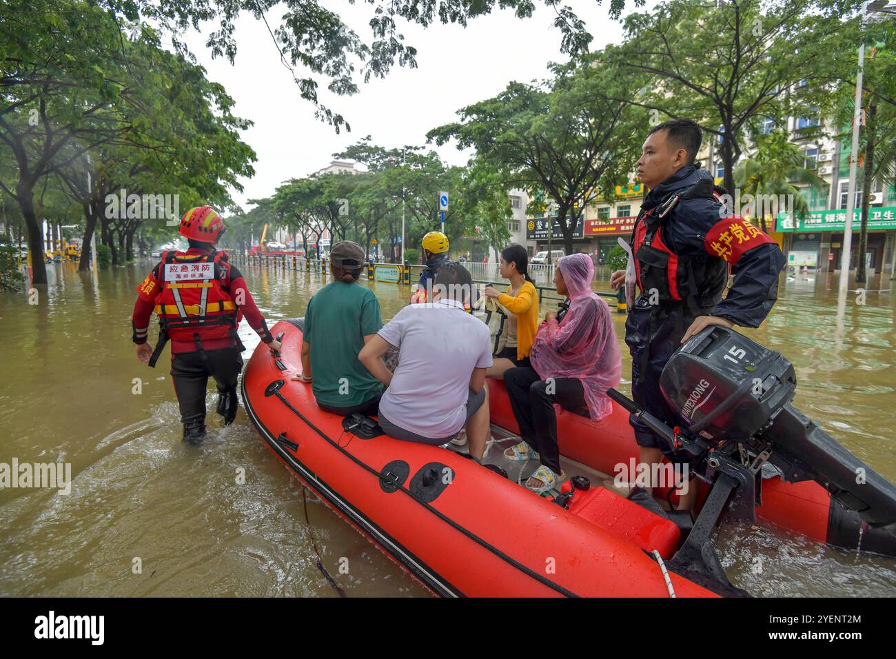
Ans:
[[[530,490],[544,492],[564,480],[557,445],[554,403],[567,410],[588,408],[597,421],[610,412],[607,388],[619,384],[622,361],[607,303],[591,290],[594,264],[590,256],[573,254],[557,261],[554,283],[569,298],[569,309],[558,320],[548,311],[532,343],[531,369],[509,369],[504,384],[522,441],[508,448],[511,460],[538,457],[541,466],[526,481]]]

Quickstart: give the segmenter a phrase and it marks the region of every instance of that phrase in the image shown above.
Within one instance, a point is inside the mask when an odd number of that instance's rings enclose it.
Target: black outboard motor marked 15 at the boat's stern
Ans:
[[[889,532],[867,537],[866,549],[893,553],[896,487],[789,404],[797,377],[780,352],[713,325],[672,355],[659,383],[683,424],[676,438],[767,460],[787,481],[819,482],[872,529]]]

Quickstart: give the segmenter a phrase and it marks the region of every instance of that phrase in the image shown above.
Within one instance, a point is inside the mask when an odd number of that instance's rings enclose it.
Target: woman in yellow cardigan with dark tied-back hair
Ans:
[[[504,379],[504,371],[517,366],[530,366],[529,352],[538,331],[538,290],[528,273],[529,256],[525,247],[511,245],[501,252],[501,276],[510,280],[506,293],[487,286],[482,291],[510,311],[504,325],[506,347],[494,355],[486,377]]]

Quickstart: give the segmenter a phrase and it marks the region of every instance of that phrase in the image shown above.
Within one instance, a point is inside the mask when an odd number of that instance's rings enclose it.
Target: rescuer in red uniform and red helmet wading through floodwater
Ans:
[[[134,343],[137,359],[151,367],[171,342],[171,377],[184,423],[184,440],[205,437],[205,391],[209,376],[218,386],[218,413],[224,424],[237,416],[237,377],[245,350],[237,325],[245,315],[249,325],[271,351],[280,351],[255,306],[246,280],[228,256],[215,248],[226,227],[211,206],[185,212],[180,235],[190,248],[168,251],[137,287],[134,304]],[[147,343],[150,316],[159,316],[159,343]]]

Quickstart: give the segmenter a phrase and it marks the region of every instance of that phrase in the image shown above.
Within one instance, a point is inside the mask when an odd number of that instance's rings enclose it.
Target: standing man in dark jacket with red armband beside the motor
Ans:
[[[632,353],[634,402],[671,426],[678,421],[659,391],[659,374],[672,353],[710,325],[761,325],[777,299],[784,266],[780,247],[733,215],[710,173],[694,164],[701,141],[693,121],[667,121],[650,131],[637,163],[638,178],[650,192],[632,235],[641,294],[625,322],[625,343]],[[722,299],[729,271],[734,284]],[[624,282],[622,270],[610,279],[613,288]],[[640,421],[629,422],[642,464],[657,464],[664,454],[681,460]],[[685,488],[691,496],[680,507],[693,504],[696,490]]]

